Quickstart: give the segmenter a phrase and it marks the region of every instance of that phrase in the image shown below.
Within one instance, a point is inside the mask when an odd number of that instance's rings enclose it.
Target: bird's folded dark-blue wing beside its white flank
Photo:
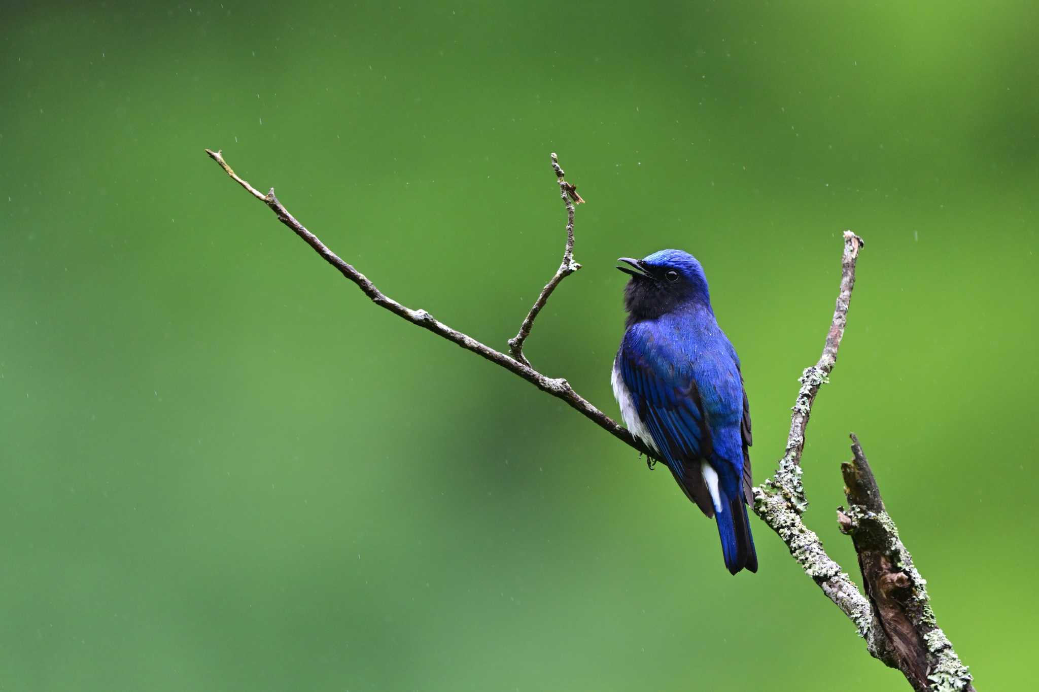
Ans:
[[[631,345],[634,346],[634,345]],[[712,453],[711,430],[690,368],[681,357],[645,342],[621,348],[617,365],[639,419],[674,474],[686,496],[708,516],[714,505],[700,469]]]

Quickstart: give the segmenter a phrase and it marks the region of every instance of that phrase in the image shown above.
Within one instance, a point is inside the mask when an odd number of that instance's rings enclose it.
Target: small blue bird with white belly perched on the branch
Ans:
[[[612,378],[624,424],[667,463],[686,497],[715,517],[729,573],[757,571],[747,517],[750,406],[703,267],[676,249],[618,261],[631,267],[617,269],[632,275]]]

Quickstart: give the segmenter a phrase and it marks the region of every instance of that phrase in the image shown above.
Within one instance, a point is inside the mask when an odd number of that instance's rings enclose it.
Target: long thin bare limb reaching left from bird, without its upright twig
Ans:
[[[429,329],[433,334],[461,346],[465,350],[472,351],[477,355],[505,368],[509,372],[523,377],[542,392],[562,399],[571,408],[579,411],[582,416],[612,434],[620,442],[642,454],[649,455],[649,450],[645,445],[633,437],[625,428],[617,425],[610,419],[609,416],[601,411],[587,399],[575,392],[574,388],[571,388],[569,382],[567,382],[564,378],[553,378],[542,375],[538,371],[531,368],[530,365],[521,363],[520,361],[510,357],[505,353],[501,353],[500,351],[496,351],[489,346],[473,339],[469,335],[451,328],[447,324],[444,324],[439,320],[435,319],[425,310],[411,310],[410,308],[406,308],[379,291],[375,284],[373,284],[367,276],[354,269],[352,265],[344,262],[338,255],[328,249],[328,247],[321,242],[317,236],[308,231],[302,223],[297,221],[296,218],[289,213],[289,210],[287,210],[282,203],[277,201],[277,197],[274,196],[274,188],[270,188],[270,191],[267,192],[267,194],[261,194],[256,188],[239,178],[235,171],[232,170],[231,166],[229,166],[223,160],[223,156],[220,152],[214,152],[207,149],[206,153],[211,159],[220,164],[220,167],[223,168],[223,170],[231,176],[235,182],[248,190],[252,196],[261,199],[265,205],[267,205],[277,216],[277,220],[292,229],[293,233],[302,238],[303,242],[308,245],[313,247],[325,262],[336,267],[336,269],[339,270],[339,273],[343,274],[343,276],[356,284],[357,288],[359,288],[365,295],[371,298],[372,302],[376,305],[389,310],[394,315],[407,320],[411,324],[421,326],[424,329]],[[570,219],[572,221],[572,214],[570,215]],[[567,246],[571,250],[570,259],[572,260],[572,223],[570,223],[569,236],[570,238],[567,242]]]

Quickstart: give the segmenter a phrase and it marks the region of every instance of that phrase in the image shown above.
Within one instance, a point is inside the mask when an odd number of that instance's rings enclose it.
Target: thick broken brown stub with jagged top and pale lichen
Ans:
[[[873,628],[883,632],[870,653],[898,668],[918,692],[974,690],[970,671],[938,629],[927,582],[913,565],[880,497],[877,479],[853,434],[852,460],[841,464],[848,509],[837,510],[850,535],[872,605]]]

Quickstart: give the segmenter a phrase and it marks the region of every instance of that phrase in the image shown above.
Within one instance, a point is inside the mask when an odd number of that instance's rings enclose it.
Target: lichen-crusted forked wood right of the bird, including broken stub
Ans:
[[[841,288],[819,362],[801,374],[791,415],[787,449],[772,478],[753,488],[754,512],[778,534],[801,569],[855,624],[875,658],[898,668],[918,692],[973,692],[970,673],[937,628],[912,558],[884,511],[880,490],[858,440],[852,435],[854,460],[842,467],[849,509],[838,511],[842,531],[852,535],[865,584],[858,587],[823,548],[801,518],[808,503],[801,483],[804,433],[819,388],[828,381],[848,324],[855,287],[855,265],[862,239],[845,231]]]

